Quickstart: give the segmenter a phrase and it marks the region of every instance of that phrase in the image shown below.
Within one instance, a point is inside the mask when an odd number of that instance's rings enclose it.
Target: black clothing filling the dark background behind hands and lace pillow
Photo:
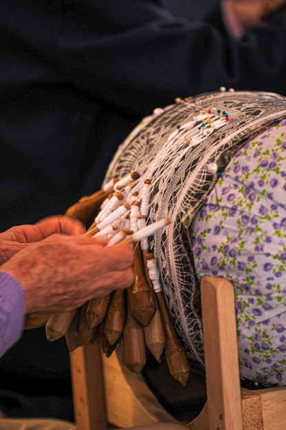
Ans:
[[[218,1],[1,0],[0,52],[1,231],[98,190],[126,135],[175,97],[286,94],[285,8],[238,41]],[[9,416],[72,420],[65,340],[25,332],[0,381]]]

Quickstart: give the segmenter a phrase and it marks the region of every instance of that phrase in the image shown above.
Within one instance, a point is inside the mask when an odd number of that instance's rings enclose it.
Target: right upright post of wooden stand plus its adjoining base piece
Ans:
[[[201,304],[208,400],[201,414],[187,427],[192,430],[286,429],[286,387],[250,390],[239,385],[231,282],[203,278]]]

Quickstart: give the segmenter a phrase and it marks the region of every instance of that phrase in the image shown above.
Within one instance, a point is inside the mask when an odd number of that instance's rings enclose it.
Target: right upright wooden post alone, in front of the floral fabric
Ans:
[[[234,288],[228,280],[201,280],[203,339],[210,429],[242,430]]]

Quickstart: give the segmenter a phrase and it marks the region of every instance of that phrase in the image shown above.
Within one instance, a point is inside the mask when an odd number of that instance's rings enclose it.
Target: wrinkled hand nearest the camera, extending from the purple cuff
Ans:
[[[41,234],[51,233],[42,227]],[[24,230],[21,234],[27,243]],[[131,286],[133,248],[105,245],[106,240],[98,238],[53,234],[15,253],[1,270],[23,286],[26,313],[63,313],[115,288]]]

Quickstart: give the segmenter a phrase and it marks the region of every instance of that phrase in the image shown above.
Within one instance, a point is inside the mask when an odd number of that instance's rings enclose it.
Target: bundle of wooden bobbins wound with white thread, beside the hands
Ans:
[[[89,225],[87,235],[107,237],[107,246],[132,242],[135,282],[126,291],[118,289],[91,299],[80,309],[51,315],[45,325],[46,336],[49,341],[65,336],[70,352],[87,342],[100,341],[102,352],[109,357],[118,346],[122,363],[137,374],[146,363],[146,349],[158,362],[164,354],[170,374],[186,385],[190,374],[186,350],[168,314],[146,237],[164,228],[169,220],[147,226],[151,180],[145,179],[142,189],[137,190],[139,177],[134,171],[122,179],[112,179],[66,213]]]

